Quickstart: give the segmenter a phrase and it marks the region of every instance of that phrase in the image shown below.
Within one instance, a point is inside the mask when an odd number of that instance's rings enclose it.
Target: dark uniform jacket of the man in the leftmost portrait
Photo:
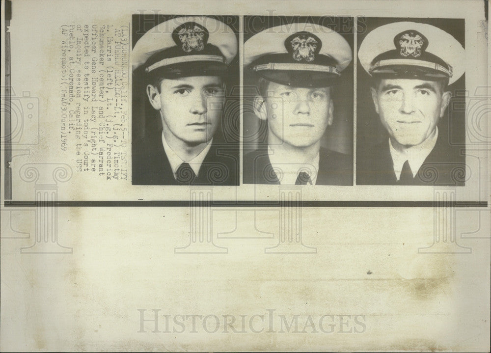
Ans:
[[[191,185],[238,185],[238,156],[234,147],[212,143]],[[133,185],[180,185],[162,145],[162,129],[136,141],[133,150]]]

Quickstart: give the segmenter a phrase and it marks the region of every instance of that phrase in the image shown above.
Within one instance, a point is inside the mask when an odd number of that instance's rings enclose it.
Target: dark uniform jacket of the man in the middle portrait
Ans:
[[[255,150],[244,156],[244,184],[279,184],[268,150]],[[316,185],[353,185],[350,156],[321,147]]]

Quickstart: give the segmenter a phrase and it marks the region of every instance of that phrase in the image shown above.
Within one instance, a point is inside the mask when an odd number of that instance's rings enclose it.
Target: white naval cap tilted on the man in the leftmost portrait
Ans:
[[[214,75],[223,72],[237,54],[232,28],[212,17],[185,16],[147,31],[133,48],[133,71],[166,76]]]

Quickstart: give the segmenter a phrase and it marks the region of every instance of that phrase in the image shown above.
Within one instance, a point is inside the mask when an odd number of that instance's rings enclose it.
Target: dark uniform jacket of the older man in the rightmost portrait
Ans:
[[[426,157],[410,185],[464,186],[464,151],[461,154],[461,147],[451,146],[448,141],[447,136],[438,134],[435,147]],[[398,185],[389,143],[387,138],[381,144],[358,152],[357,185]]]

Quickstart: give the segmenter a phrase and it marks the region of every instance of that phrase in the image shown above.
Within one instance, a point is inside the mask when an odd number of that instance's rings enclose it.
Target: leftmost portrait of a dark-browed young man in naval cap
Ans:
[[[133,24],[133,184],[237,185],[238,136],[221,129],[238,119],[223,114],[227,82],[238,84],[237,30],[205,16],[157,20],[143,35],[148,19]]]

